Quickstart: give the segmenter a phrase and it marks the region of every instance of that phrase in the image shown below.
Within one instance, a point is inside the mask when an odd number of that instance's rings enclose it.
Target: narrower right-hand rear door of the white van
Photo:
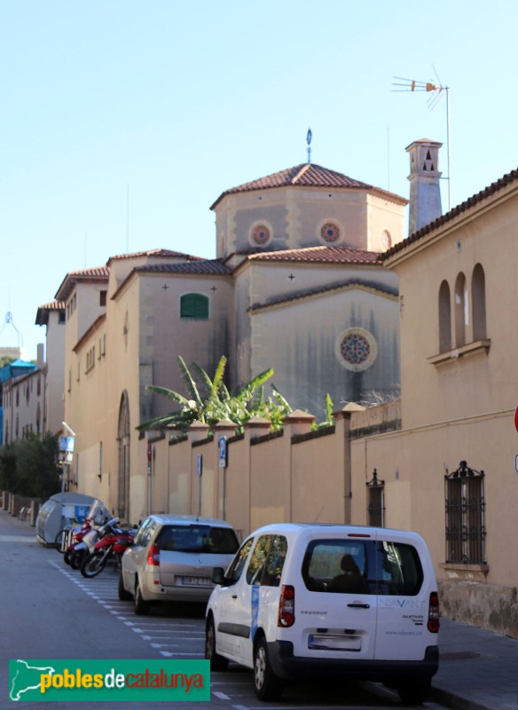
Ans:
[[[428,631],[430,592],[435,576],[428,550],[418,536],[379,534],[376,543],[378,629],[375,659],[421,660],[437,643]]]

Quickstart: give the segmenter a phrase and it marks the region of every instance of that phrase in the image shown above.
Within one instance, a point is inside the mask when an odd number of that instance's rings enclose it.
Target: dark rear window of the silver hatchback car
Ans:
[[[232,528],[212,525],[165,525],[156,540],[160,549],[233,555],[239,548]]]

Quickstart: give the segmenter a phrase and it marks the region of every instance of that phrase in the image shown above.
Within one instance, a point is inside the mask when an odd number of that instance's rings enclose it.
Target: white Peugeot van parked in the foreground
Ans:
[[[207,606],[205,657],[254,669],[279,698],[309,675],[383,682],[422,702],[439,662],[439,597],[417,533],[351,525],[266,525],[250,534]]]

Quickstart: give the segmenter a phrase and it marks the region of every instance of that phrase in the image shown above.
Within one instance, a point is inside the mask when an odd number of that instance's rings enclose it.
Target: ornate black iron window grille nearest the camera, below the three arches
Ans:
[[[486,563],[483,480],[484,472],[466,461],[444,476],[447,563]]]

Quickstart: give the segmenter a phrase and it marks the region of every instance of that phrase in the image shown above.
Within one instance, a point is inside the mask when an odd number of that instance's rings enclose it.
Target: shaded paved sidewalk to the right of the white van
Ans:
[[[441,619],[430,700],[460,710],[518,710],[518,639]]]

